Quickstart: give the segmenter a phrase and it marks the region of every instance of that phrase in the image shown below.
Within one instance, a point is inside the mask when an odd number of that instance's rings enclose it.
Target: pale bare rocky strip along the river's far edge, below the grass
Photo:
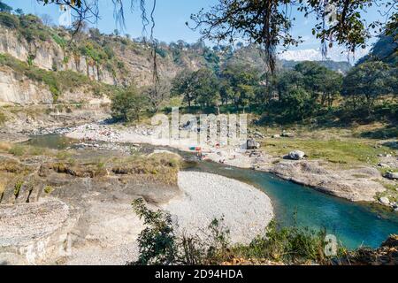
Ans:
[[[188,133],[185,133],[188,134]],[[171,146],[189,151],[193,144],[189,140],[170,142],[157,139],[148,126],[126,127],[90,124],[77,126],[66,134],[81,141],[149,143]],[[244,144],[241,141],[241,144]],[[195,144],[194,144],[195,146]],[[292,180],[304,186],[348,199],[353,202],[381,203],[380,196],[385,195],[387,187],[392,187],[391,195],[396,195],[396,181],[383,178],[378,168],[371,165],[349,164],[339,166],[327,160],[305,159],[287,160],[284,156],[275,156],[260,150],[245,150],[241,145],[216,148],[203,147],[205,157],[214,162],[272,172],[285,180]],[[287,155],[288,152],[285,153]],[[394,161],[396,157],[389,157]],[[386,185],[387,184],[387,185]],[[396,210],[397,204],[392,197],[389,203],[381,203]]]

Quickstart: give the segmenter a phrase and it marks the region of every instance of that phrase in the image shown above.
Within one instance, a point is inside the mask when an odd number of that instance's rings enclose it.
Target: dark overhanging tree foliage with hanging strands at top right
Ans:
[[[371,38],[371,29],[387,27],[391,30],[396,27],[394,1],[379,2],[329,0],[325,4],[323,0],[218,0],[209,10],[202,9],[191,19],[195,22],[193,28],[200,28],[203,37],[212,41],[233,42],[235,38],[241,38],[260,44],[265,63],[274,73],[277,47],[302,42],[300,36],[294,37],[291,33],[295,23],[295,18],[291,16],[293,9],[304,17],[315,16],[312,34],[323,43],[325,54],[334,42],[345,45],[350,51],[364,48]],[[330,9],[331,5],[335,9]],[[387,23],[379,20],[366,22],[363,15],[372,5],[378,5],[380,11],[385,13],[389,19]]]

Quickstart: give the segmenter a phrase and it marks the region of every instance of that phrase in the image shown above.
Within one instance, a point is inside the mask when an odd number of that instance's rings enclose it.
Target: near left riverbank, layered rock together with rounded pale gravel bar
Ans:
[[[233,242],[251,241],[273,216],[264,192],[218,175],[178,173],[174,154],[125,157],[118,150],[85,149],[59,159],[57,153],[0,154],[0,175],[10,180],[0,183],[0,263],[134,261],[145,228],[131,206],[136,198],[152,210],[170,211],[177,233],[199,234],[224,216]]]

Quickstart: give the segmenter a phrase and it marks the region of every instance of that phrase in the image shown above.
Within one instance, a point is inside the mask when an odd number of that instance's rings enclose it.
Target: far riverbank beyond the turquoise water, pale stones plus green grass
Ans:
[[[398,210],[398,181],[384,178],[383,173],[386,170],[398,171],[394,149],[384,146],[385,142],[348,138],[346,132],[332,135],[331,132],[322,132],[320,140],[305,134],[297,139],[295,134],[285,132],[269,136],[251,132],[249,135],[262,142],[265,148],[245,150],[244,141],[221,149],[211,144],[205,144],[202,148],[205,158],[214,162],[272,172],[283,179],[314,187],[326,194],[355,202],[381,203]],[[168,145],[186,151],[195,145],[189,140],[174,142],[157,139],[149,126],[90,124],[75,127],[67,135],[88,141]],[[335,141],[335,137],[342,140]],[[287,160],[286,156],[291,150],[302,148],[306,154],[304,160]],[[387,197],[388,203],[381,197]]]

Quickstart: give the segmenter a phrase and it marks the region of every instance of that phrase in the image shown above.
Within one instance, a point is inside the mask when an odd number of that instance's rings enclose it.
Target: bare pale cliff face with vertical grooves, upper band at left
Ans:
[[[107,40],[112,41],[110,38]],[[138,87],[142,87],[152,83],[154,63],[148,46],[137,43],[133,47],[120,44],[119,39],[114,39],[111,49],[120,64],[124,66],[123,70],[112,72],[90,57],[65,51],[52,39],[27,42],[18,31],[7,27],[0,28],[0,54],[8,54],[43,70],[71,70],[87,75],[91,80],[110,85],[128,85],[134,82]],[[188,57],[183,58],[180,65],[176,65],[172,57],[157,57],[157,72],[168,79],[172,79],[185,68],[197,70],[203,65],[200,60]]]

